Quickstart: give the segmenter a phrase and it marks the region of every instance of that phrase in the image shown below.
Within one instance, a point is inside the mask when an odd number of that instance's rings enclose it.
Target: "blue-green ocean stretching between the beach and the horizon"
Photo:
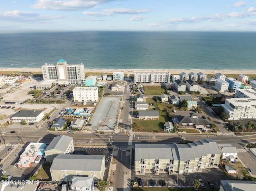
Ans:
[[[42,32],[0,34],[0,67],[64,59],[86,69],[256,69],[255,32]]]

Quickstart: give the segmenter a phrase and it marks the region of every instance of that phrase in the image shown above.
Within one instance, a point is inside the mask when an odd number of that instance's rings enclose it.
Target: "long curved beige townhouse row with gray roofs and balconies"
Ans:
[[[220,150],[211,139],[188,144],[135,144],[135,172],[185,174],[218,165]]]

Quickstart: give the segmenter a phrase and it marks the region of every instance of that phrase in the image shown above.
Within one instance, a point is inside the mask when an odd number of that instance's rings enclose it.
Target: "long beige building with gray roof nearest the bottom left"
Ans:
[[[50,167],[53,181],[72,180],[75,176],[103,179],[104,172],[104,155],[58,155]]]

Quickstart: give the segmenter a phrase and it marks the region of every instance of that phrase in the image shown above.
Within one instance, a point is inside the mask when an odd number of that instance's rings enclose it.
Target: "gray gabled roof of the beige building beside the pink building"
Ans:
[[[72,140],[72,137],[66,135],[56,136],[50,142],[45,151],[56,149],[65,152]]]

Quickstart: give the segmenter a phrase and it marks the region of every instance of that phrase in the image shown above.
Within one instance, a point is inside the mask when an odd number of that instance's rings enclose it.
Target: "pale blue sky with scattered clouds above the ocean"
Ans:
[[[1,0],[0,32],[256,31],[256,0]]]

